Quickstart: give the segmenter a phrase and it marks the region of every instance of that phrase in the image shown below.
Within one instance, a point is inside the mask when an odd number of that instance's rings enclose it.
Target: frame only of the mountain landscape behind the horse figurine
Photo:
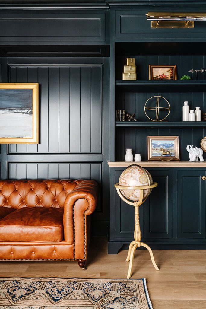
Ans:
[[[147,155],[148,160],[159,160],[159,157],[152,156],[152,141],[174,141],[173,160],[179,161],[179,136],[148,136],[147,137]]]

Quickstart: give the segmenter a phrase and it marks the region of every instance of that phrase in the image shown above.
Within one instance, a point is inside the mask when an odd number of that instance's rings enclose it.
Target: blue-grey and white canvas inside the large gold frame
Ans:
[[[32,89],[0,89],[0,137],[32,138]]]

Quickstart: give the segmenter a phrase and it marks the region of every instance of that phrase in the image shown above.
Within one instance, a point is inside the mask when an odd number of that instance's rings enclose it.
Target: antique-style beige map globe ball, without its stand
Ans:
[[[147,170],[137,164],[130,165],[122,172],[119,178],[119,185],[128,186],[128,189],[120,189],[121,194],[130,201],[139,201],[140,189],[130,189],[135,186],[150,186],[153,184],[152,176]],[[149,196],[152,188],[144,189],[143,201]]]

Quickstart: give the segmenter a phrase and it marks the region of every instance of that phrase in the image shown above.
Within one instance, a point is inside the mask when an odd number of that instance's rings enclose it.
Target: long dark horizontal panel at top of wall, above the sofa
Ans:
[[[0,41],[5,40],[104,41],[105,14],[1,14]]]

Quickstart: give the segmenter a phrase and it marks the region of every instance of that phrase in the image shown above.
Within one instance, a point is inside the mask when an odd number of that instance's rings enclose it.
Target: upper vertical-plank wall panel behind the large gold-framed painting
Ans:
[[[39,82],[40,143],[10,153],[102,152],[102,66],[10,66],[10,82]]]

